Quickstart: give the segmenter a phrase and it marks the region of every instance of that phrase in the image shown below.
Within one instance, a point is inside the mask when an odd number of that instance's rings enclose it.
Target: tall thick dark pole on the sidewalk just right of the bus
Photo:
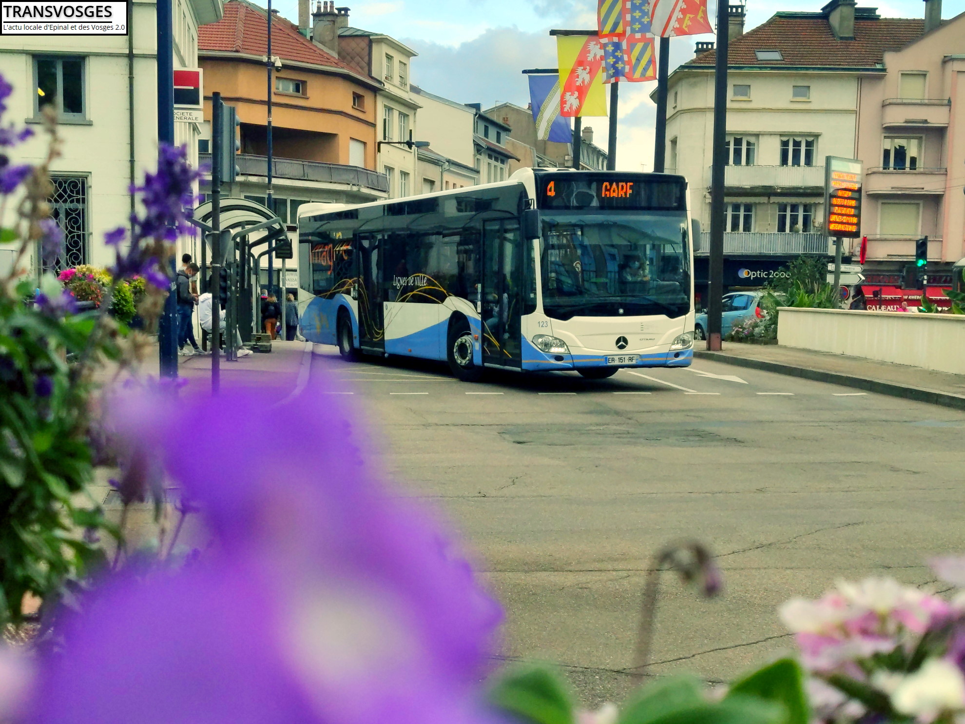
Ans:
[[[707,349],[721,348],[724,296],[724,170],[727,163],[728,3],[717,3],[717,55],[714,64],[714,143],[710,172],[710,285],[707,293]]]

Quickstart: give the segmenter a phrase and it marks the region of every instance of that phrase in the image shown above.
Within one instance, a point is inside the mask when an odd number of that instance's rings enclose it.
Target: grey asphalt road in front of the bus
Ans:
[[[703,360],[466,384],[315,349],[388,471],[475,548],[507,609],[504,656],[561,663],[588,704],[627,685],[664,543],[708,544],[726,590],[702,600],[665,577],[651,672],[712,682],[789,649],[784,600],[841,577],[927,584],[927,556],[965,548],[965,413],[946,407]]]

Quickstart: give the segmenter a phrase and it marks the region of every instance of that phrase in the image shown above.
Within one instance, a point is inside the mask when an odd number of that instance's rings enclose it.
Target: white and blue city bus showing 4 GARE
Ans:
[[[692,358],[686,181],[521,169],[508,181],[361,205],[305,204],[302,334],[346,359],[485,368],[682,367]]]

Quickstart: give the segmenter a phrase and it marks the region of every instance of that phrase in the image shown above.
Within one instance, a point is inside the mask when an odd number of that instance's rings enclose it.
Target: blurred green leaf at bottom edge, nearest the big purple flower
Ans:
[[[536,724],[573,724],[573,700],[565,682],[552,669],[529,666],[510,670],[489,690],[500,710]]]

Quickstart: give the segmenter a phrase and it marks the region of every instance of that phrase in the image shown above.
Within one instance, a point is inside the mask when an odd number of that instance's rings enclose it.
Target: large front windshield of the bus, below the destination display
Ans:
[[[684,212],[544,212],[542,222],[542,297],[548,317],[673,319],[690,310]]]

